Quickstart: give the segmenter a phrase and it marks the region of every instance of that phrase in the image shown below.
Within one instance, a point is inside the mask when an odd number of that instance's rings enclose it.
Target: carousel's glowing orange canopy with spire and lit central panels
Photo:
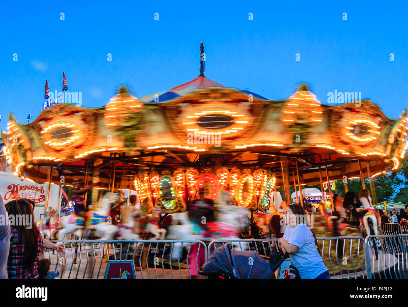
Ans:
[[[406,110],[389,119],[369,100],[321,104],[305,84],[275,101],[209,80],[200,65],[197,78],[147,97],[120,87],[100,108],[58,104],[29,124],[10,114],[4,153],[20,178],[98,182],[95,203],[135,190],[166,213],[186,211],[202,188],[214,201],[226,191],[252,212],[277,210],[277,188],[290,201],[298,187],[303,202],[304,185],[370,179],[404,159]]]

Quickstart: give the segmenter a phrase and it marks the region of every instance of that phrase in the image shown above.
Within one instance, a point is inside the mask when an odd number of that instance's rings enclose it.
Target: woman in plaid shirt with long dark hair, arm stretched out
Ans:
[[[6,210],[11,224],[10,252],[7,259],[9,279],[36,279],[37,263],[42,248],[51,248],[59,254],[64,252],[64,248],[42,239],[34,223],[31,205],[26,200],[9,201]]]

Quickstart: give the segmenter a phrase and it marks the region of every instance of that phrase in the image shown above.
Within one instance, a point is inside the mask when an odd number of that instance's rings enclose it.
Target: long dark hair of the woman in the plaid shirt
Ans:
[[[10,215],[25,215],[31,219],[31,229],[27,225],[13,225],[19,235],[18,245],[24,245],[24,255],[22,259],[23,269],[34,271],[34,261],[37,258],[38,236],[40,232],[34,223],[34,214],[30,204],[25,199],[9,201],[5,205],[7,213]]]

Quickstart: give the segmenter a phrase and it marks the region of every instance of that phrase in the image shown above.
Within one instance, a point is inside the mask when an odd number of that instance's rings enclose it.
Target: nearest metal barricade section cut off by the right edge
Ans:
[[[408,234],[367,236],[366,246],[374,279],[408,277]]]

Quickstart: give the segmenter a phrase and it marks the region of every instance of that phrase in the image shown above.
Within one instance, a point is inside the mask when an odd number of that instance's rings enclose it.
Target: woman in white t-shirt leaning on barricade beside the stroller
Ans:
[[[290,263],[303,279],[330,279],[326,265],[316,248],[315,237],[307,225],[306,212],[298,204],[288,206],[285,213],[286,227],[278,245],[290,256]]]

